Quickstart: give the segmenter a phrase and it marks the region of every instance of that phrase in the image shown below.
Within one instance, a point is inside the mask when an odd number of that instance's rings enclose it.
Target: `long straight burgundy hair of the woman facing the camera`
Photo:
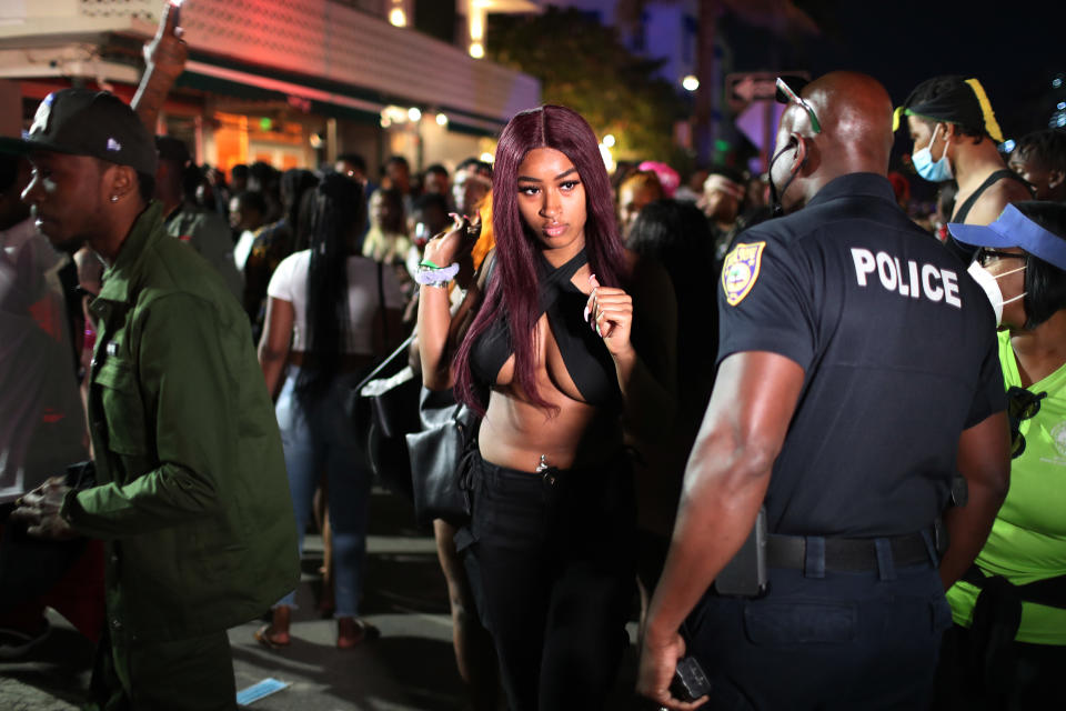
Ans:
[[[585,189],[585,251],[589,264],[604,287],[622,284],[624,248],[615,221],[611,183],[600,156],[596,134],[580,113],[566,107],[543,106],[516,114],[496,147],[492,178],[492,229],[496,240],[495,274],[485,299],[455,354],[455,394],[484,413],[470,370],[473,343],[500,318],[507,320],[514,348],[519,387],[537,407],[557,411],[536,387],[534,377],[536,321],[541,317],[536,263],[540,244],[519,211],[519,166],[526,153],[553,148],[577,169]]]

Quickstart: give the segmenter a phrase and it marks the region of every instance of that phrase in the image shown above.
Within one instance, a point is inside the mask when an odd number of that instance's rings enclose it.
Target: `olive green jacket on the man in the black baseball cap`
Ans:
[[[248,317],[222,279],[133,224],[91,304],[97,485],[62,515],[108,542],[112,639],[178,640],[261,614],[299,581],[278,423]]]

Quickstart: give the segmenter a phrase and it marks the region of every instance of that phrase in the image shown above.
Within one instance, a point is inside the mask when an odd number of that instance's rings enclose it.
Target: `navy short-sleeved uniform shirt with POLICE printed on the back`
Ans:
[[[1006,407],[987,297],[875,173],[737,236],[718,313],[720,363],[771,351],[804,369],[765,501],[776,533],[928,527],[963,430]]]

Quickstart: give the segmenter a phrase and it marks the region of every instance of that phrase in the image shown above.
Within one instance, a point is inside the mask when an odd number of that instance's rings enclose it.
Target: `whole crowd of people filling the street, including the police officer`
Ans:
[[[1056,698],[1066,133],[1005,154],[977,79],[833,72],[778,80],[763,174],[609,176],[557,106],[492,163],[220,171],[152,136],[183,52],[164,13],[132,106],[0,144],[6,657],[52,607],[98,708],[234,708],[225,630],[290,643],[312,520],[336,647],[376,638],[346,399],[413,334],[477,422],[434,523],[473,708],[601,708],[637,600],[652,708]]]

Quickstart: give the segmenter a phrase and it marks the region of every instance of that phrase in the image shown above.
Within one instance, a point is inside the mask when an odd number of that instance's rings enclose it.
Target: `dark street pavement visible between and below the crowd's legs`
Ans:
[[[452,652],[444,578],[430,531],[414,525],[410,504],[376,489],[371,501],[362,615],[381,638],[349,650],[335,648],[336,628],[315,611],[322,561],[319,537],[309,535],[303,581],[296,592],[292,643],[269,650],[252,638],[262,621],[230,630],[237,688],[266,678],[290,685],[249,705],[255,711],[462,711],[467,709]],[[88,688],[93,649],[62,618],[49,612],[52,633],[27,655],[0,663],[0,709],[71,711]],[[630,624],[631,640],[635,623]],[[635,648],[626,653],[609,709],[630,709]],[[500,708],[505,704],[501,700]]]

